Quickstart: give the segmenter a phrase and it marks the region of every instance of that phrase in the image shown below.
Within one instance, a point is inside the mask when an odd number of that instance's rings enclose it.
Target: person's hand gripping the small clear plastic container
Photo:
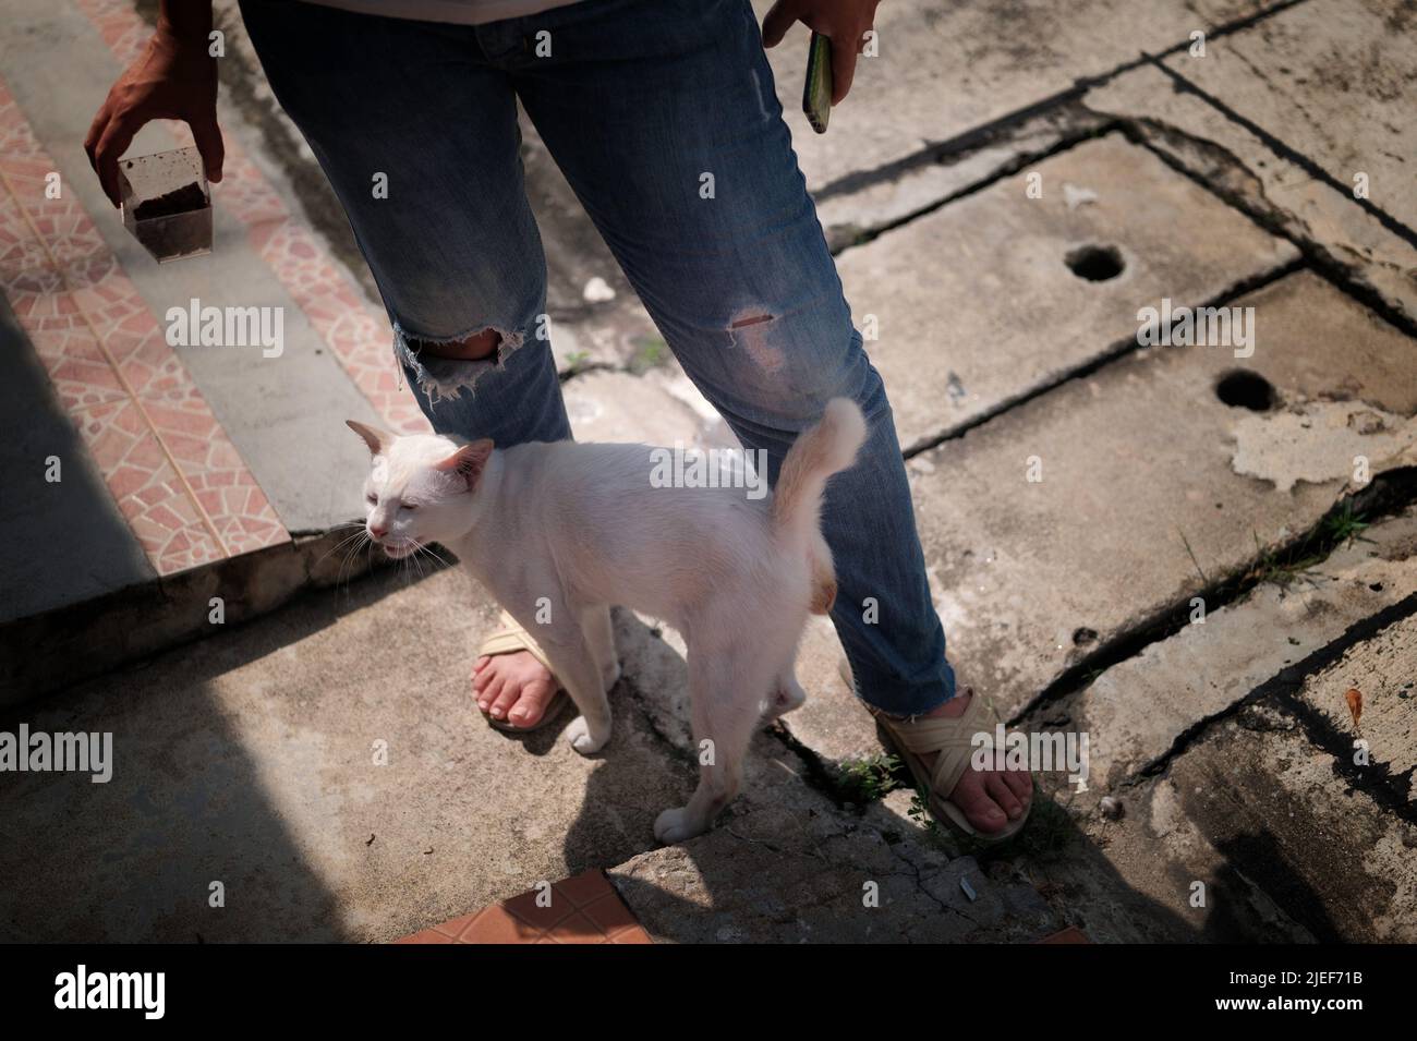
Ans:
[[[150,119],[187,123],[207,180],[221,180],[225,150],[217,129],[217,59],[207,52],[205,34],[179,34],[159,21],[147,50],[118,78],[94,116],[84,150],[113,205],[120,201],[118,160]]]

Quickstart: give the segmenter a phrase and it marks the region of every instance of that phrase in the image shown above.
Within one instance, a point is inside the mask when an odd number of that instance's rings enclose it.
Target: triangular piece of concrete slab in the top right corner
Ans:
[[[1417,82],[1414,27],[1403,0],[1312,0],[1166,65],[1346,190],[1367,174],[1370,201],[1414,234],[1417,129],[1403,102]]]

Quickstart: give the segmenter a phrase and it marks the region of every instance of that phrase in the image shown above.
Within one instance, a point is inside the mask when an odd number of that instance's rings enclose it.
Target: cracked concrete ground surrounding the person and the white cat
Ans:
[[[1408,7],[893,0],[825,136],[798,112],[801,28],[772,52],[874,330],[951,659],[1024,729],[1090,741],[1085,782],[1043,772],[1024,837],[982,851],[924,823],[820,620],[808,702],[755,739],[720,827],[676,847],[652,821],[691,790],[696,749],[683,647],[655,619],[618,615],[601,755],[570,749],[570,717],[489,729],[468,671],[495,605],[455,568],[339,548],[363,466],[341,421],[421,419],[235,4],[217,4],[218,249],[159,268],[79,147],[152,6],[18,0],[0,25],[0,732],[112,732],[115,769],[0,773],[0,936],[390,940],[602,868],[673,942],[1417,939]],[[181,142],[145,133],[135,152]],[[577,435],[731,443],[526,135]],[[92,432],[101,358],[44,319],[89,299],[44,238],[54,214],[30,210],[48,169],[135,310],[285,309],[279,364],[163,363],[264,494],[262,545],[214,508],[225,552],[179,559],[125,497]],[[1253,350],[1141,344],[1138,312],[1163,302],[1238,309]],[[81,347],[118,350],[85,320]],[[153,438],[181,446],[160,418]]]

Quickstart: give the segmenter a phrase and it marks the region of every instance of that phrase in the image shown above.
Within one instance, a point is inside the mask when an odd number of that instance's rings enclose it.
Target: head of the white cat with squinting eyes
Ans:
[[[364,528],[394,559],[429,542],[465,535],[473,521],[470,497],[492,456],[492,442],[458,445],[434,433],[397,436],[346,421],[368,445]]]

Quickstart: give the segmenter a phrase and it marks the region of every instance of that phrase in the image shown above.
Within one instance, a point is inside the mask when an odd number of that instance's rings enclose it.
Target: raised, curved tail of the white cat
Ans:
[[[822,422],[805,431],[782,460],[772,494],[772,527],[791,552],[805,552],[812,572],[813,615],[836,599],[832,551],[822,538],[822,491],[826,479],[856,462],[866,440],[866,418],[849,398],[826,402]]]

